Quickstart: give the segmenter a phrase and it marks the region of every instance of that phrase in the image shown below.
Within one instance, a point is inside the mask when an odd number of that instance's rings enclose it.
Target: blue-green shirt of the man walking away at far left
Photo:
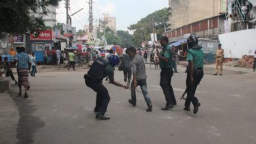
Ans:
[[[28,69],[29,63],[31,62],[28,54],[20,52],[16,55],[16,60],[18,61],[17,69]]]

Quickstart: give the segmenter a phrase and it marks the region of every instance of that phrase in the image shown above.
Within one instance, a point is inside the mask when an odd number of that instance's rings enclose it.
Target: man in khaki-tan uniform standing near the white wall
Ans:
[[[223,58],[224,58],[224,50],[221,48],[221,44],[218,45],[219,48],[216,51],[216,71],[214,75],[218,75],[219,73],[219,67],[221,67],[221,71],[219,75],[223,75]]]

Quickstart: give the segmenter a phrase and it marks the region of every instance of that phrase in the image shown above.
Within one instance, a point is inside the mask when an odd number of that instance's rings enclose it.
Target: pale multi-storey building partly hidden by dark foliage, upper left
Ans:
[[[45,26],[53,27],[56,24],[56,7],[47,7],[47,14],[43,14],[43,11],[39,9],[37,12],[30,12],[30,15],[35,18],[42,16]]]

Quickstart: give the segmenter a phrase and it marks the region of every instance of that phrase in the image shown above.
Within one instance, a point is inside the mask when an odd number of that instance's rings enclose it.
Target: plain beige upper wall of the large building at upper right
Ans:
[[[169,0],[169,29],[226,12],[226,0]]]

